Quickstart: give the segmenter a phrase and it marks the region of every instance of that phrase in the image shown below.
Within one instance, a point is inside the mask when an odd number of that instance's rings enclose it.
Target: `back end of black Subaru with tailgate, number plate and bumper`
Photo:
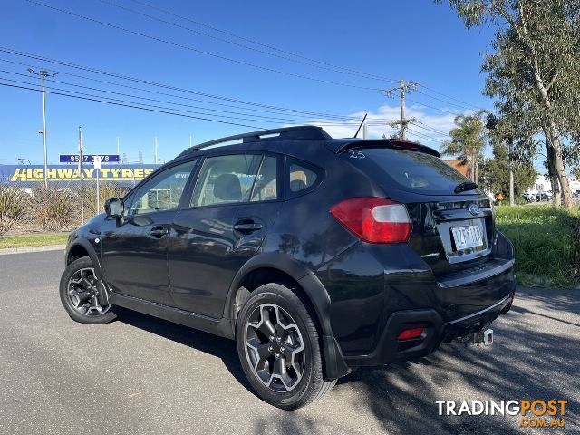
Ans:
[[[483,191],[409,142],[361,140],[335,151],[372,188],[331,214],[384,270],[382,330],[370,352],[346,355],[349,365],[423,356],[509,309],[514,250]]]

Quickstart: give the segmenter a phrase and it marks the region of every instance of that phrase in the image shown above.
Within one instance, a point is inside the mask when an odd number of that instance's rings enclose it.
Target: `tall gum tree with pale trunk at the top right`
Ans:
[[[482,67],[488,73],[484,93],[499,99],[504,136],[522,138],[523,131],[544,136],[549,173],[562,188],[564,205],[572,207],[565,160],[576,153],[570,138],[580,125],[580,0],[449,0],[449,5],[467,27],[497,27],[495,53]],[[533,143],[530,138],[525,143]]]

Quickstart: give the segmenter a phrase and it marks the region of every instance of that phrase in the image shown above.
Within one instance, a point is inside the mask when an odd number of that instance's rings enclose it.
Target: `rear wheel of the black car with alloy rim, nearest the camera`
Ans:
[[[285,285],[266,284],[252,292],[237,316],[236,342],[248,381],[277,408],[301,408],[336,383],[324,381],[313,315]]]

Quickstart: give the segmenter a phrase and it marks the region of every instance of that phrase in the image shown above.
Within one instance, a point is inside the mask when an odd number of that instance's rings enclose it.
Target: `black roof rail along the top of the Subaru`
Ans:
[[[274,137],[264,137],[274,134],[276,135]],[[220,143],[226,143],[240,139],[243,140],[243,143],[247,143],[255,142],[257,140],[327,140],[333,138],[326,131],[324,131],[322,127],[316,127],[314,125],[302,125],[298,127],[285,127],[282,129],[253,131],[251,133],[227,136],[227,138],[209,140],[208,142],[194,145],[193,147],[183,151],[181,154],[179,154],[179,156],[202,150],[204,148],[212,147]]]

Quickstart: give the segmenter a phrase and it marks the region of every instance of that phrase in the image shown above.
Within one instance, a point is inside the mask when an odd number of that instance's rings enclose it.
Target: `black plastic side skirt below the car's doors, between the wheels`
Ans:
[[[234,339],[231,320],[229,319],[213,319],[205,315],[189,313],[188,311],[183,311],[179,308],[156,304],[136,297],[120,295],[118,293],[109,294],[109,303],[122,306],[123,308],[129,308],[130,310],[138,311],[143,314],[150,314],[153,317],[169,320],[169,322],[174,322],[176,324],[183,324],[206,333],[213,333],[220,337]]]

